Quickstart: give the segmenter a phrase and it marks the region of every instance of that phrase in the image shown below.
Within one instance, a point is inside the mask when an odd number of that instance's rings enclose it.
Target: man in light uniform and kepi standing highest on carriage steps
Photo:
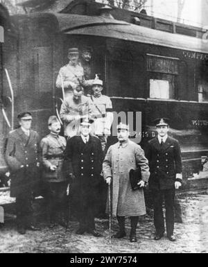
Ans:
[[[84,69],[78,62],[78,48],[69,49],[68,58],[69,63],[60,69],[56,80],[56,87],[64,88],[65,97],[72,95],[78,85],[84,88],[92,85],[92,80],[85,79]]]

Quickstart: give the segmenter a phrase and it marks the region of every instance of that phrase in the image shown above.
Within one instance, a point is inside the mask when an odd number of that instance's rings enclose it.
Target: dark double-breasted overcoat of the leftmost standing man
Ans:
[[[18,197],[37,190],[40,183],[39,135],[30,130],[27,137],[21,128],[8,135],[6,162],[11,172],[10,196]]]

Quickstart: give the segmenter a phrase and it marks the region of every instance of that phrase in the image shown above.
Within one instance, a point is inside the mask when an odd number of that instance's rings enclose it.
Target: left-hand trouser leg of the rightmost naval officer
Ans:
[[[164,234],[163,191],[153,191],[154,225],[157,234]]]

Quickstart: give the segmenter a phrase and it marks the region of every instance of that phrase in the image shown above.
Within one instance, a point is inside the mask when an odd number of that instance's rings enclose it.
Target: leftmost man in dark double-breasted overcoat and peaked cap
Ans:
[[[6,161],[11,173],[10,196],[16,198],[17,230],[39,230],[33,224],[33,193],[40,182],[39,135],[31,130],[30,112],[18,115],[20,127],[8,135]]]

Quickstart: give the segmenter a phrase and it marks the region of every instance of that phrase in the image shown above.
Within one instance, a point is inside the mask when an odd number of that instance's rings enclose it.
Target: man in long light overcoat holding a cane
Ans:
[[[131,218],[130,242],[137,242],[136,229],[139,216],[146,214],[143,187],[148,182],[148,160],[141,146],[129,139],[129,127],[123,123],[117,126],[119,142],[110,146],[103,162],[103,174],[107,184],[112,183],[112,215],[117,216],[119,232],[114,238],[125,236],[125,216]],[[141,189],[132,191],[129,173],[141,168]]]

